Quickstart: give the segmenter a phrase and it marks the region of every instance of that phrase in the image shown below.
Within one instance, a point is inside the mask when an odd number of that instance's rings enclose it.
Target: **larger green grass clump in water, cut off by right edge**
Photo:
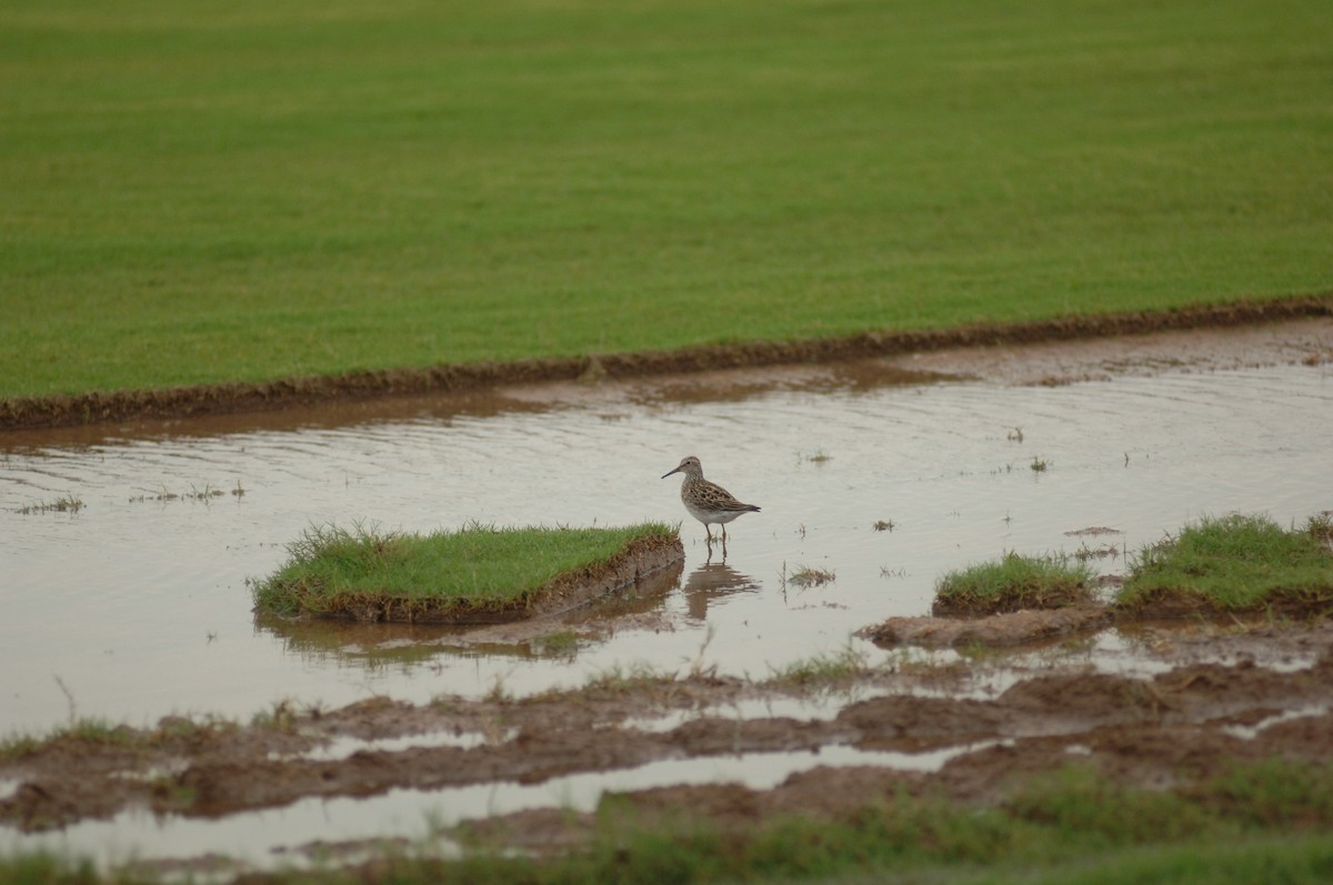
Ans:
[[[1184,604],[1217,612],[1329,612],[1333,554],[1322,524],[1284,529],[1266,516],[1205,517],[1144,546],[1116,605]]]

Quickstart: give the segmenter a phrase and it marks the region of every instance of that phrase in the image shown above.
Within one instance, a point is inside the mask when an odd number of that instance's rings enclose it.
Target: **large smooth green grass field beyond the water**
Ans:
[[[1333,288],[1324,0],[0,5],[0,397]]]

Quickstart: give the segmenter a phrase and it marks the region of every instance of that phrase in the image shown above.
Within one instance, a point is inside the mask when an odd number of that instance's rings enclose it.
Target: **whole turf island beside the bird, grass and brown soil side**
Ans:
[[[485,624],[589,602],[685,554],[677,528],[496,528],[431,534],[307,529],[253,585],[255,610],[287,617]]]

